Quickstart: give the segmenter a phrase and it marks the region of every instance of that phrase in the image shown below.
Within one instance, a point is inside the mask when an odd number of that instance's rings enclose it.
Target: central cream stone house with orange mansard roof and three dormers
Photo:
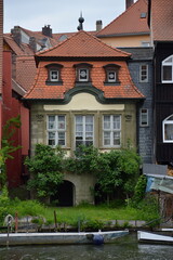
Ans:
[[[110,151],[131,140],[136,146],[136,109],[145,96],[132,81],[130,56],[83,30],[36,54],[37,75],[24,96],[30,108],[31,155],[37,143],[61,145],[68,156],[80,144]],[[92,174],[67,172],[64,180],[71,191],[68,206],[94,203]]]

